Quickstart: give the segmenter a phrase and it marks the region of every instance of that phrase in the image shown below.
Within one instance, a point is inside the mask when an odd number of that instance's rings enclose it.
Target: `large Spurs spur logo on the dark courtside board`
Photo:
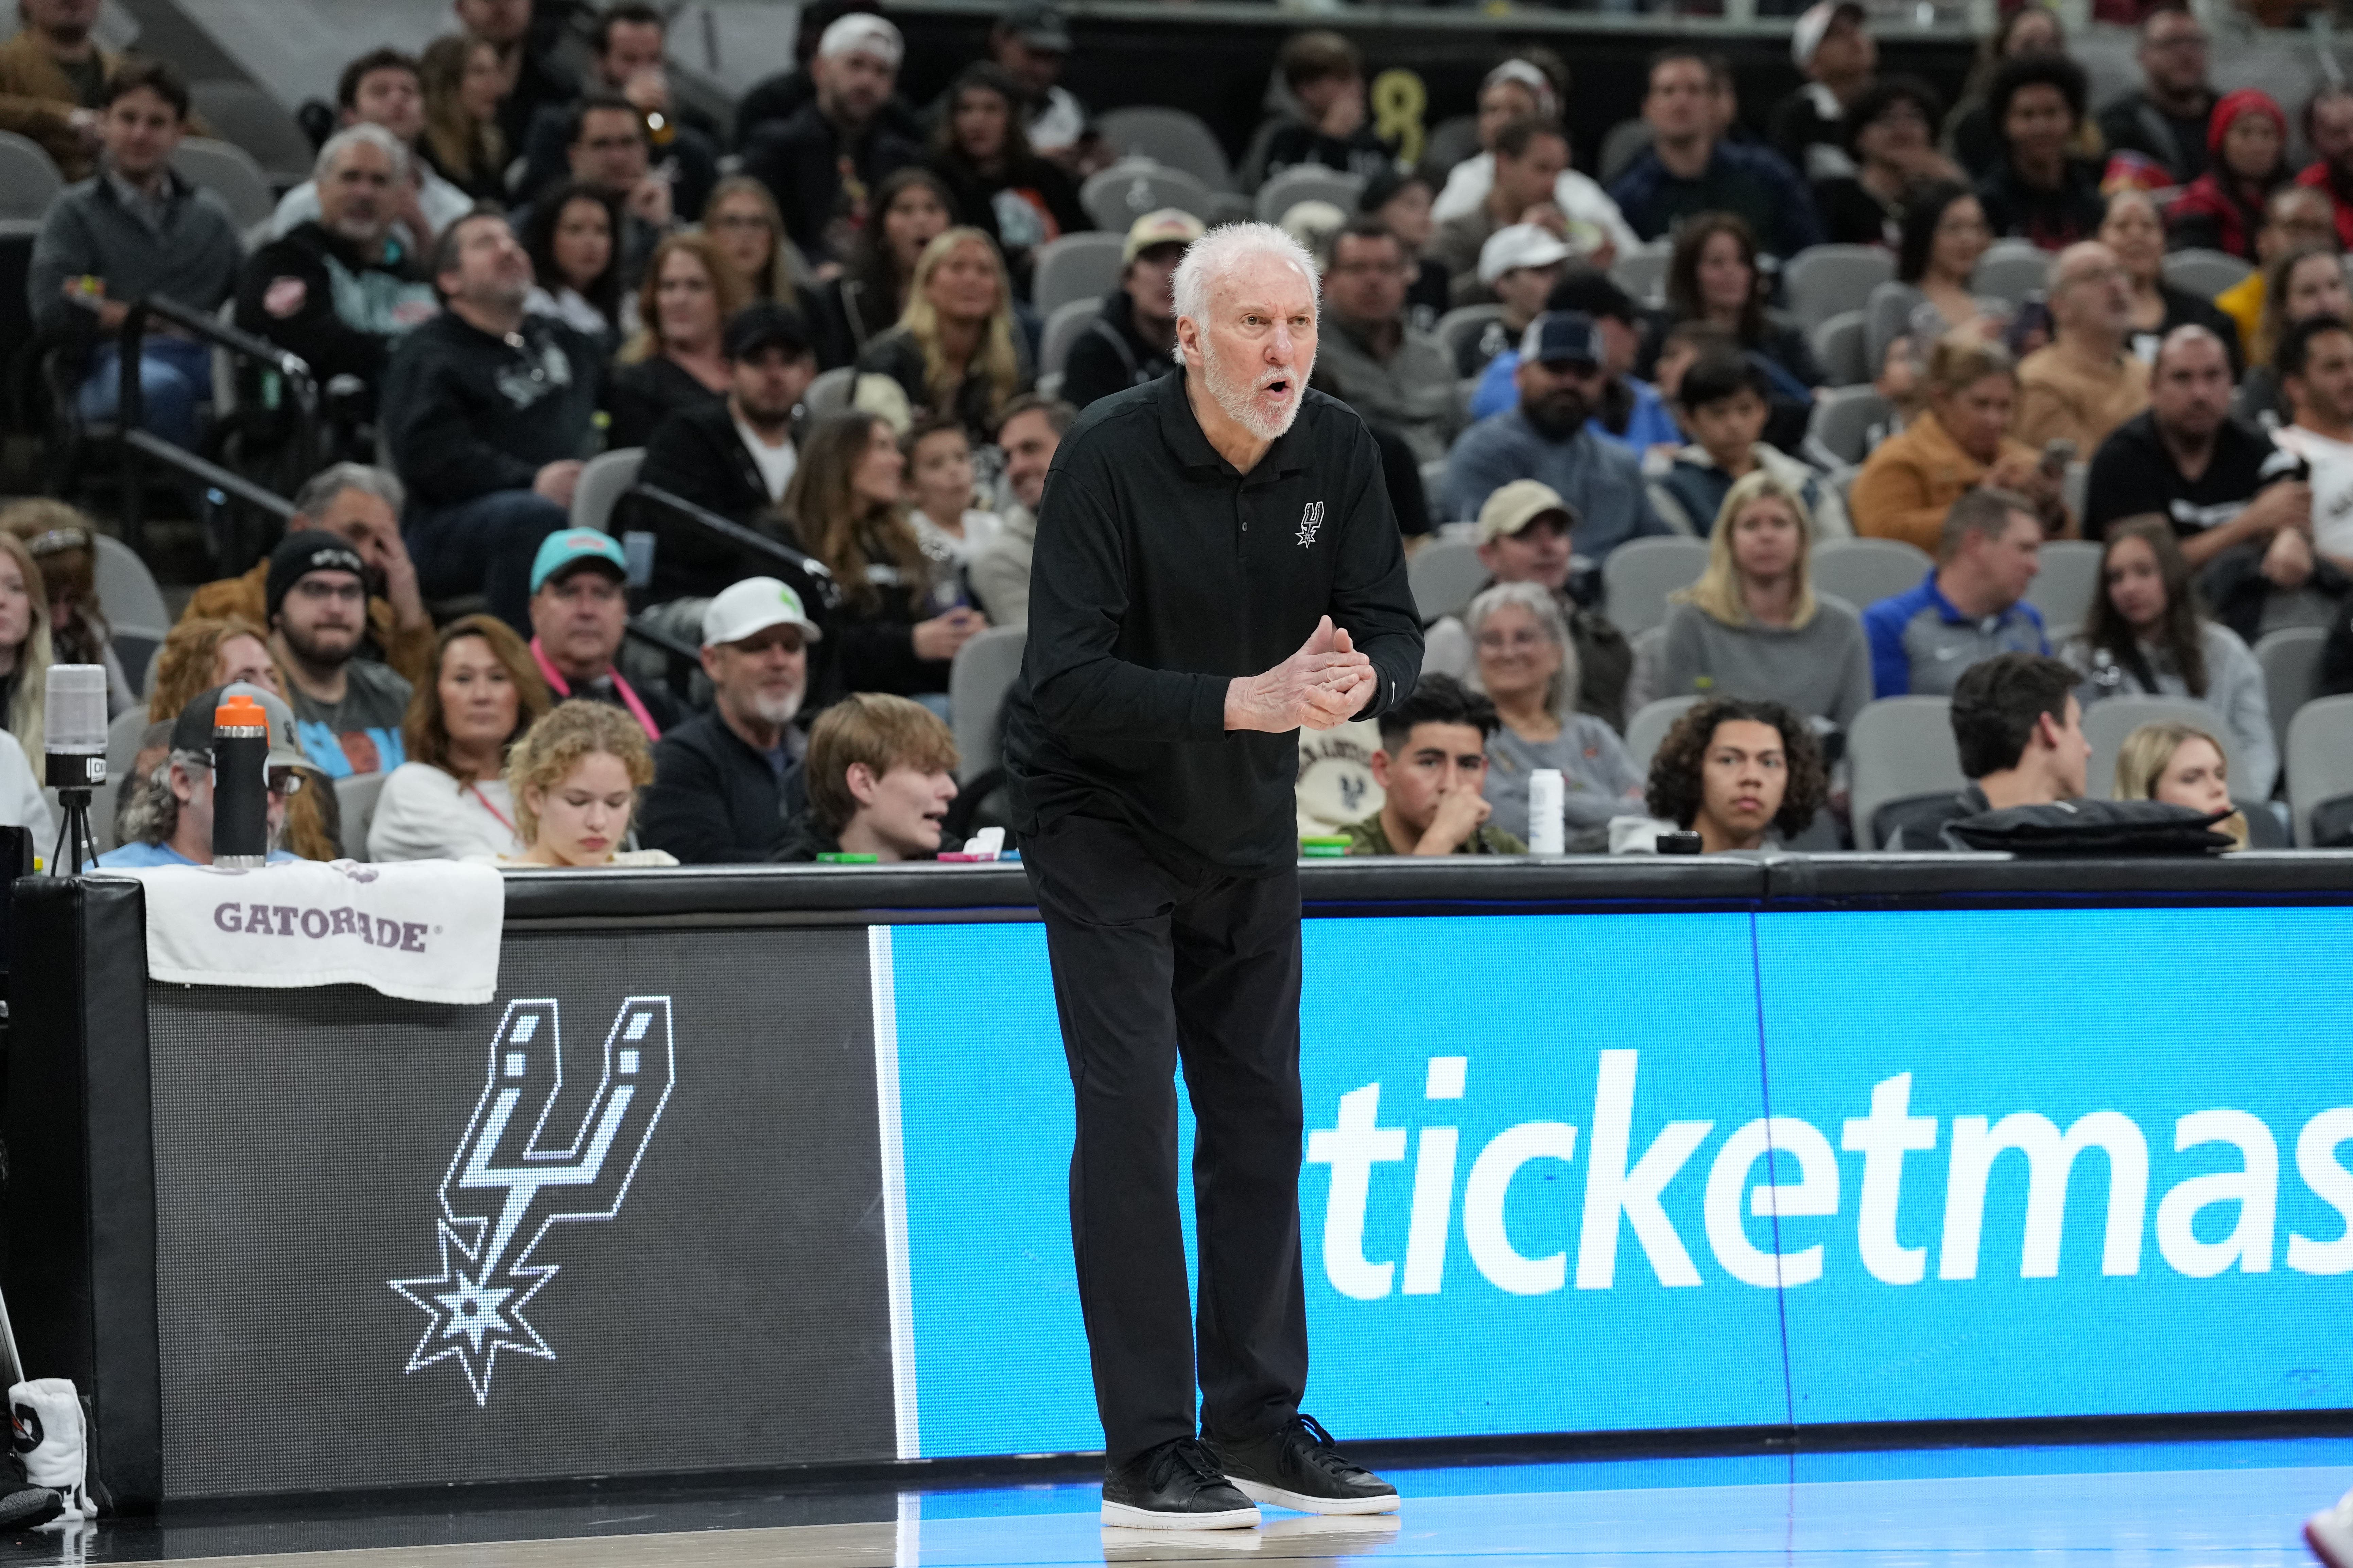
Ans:
[[[501,1349],[555,1359],[522,1314],[560,1267],[539,1262],[539,1246],[560,1220],[621,1213],[675,1072],[671,999],[628,997],[605,1034],[595,1093],[576,1119],[567,1112],[551,1128],[565,1103],[558,1004],[508,1004],[482,1098],[440,1185],[440,1272],[386,1281],[431,1319],[405,1371],[456,1361],[480,1406]]]

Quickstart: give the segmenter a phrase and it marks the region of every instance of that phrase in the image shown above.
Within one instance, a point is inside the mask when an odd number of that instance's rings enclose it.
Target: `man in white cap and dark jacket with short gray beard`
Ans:
[[[807,806],[793,726],[809,691],[809,644],[824,628],[791,585],[755,576],[704,609],[713,705],[661,736],[638,835],[685,865],[774,860]]]

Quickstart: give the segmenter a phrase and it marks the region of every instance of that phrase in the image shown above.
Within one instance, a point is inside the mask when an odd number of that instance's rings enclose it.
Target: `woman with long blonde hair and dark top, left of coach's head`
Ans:
[[[1005,259],[979,228],[951,228],[915,259],[899,324],[859,355],[856,407],[899,430],[920,414],[953,418],[984,444],[1031,381]]]

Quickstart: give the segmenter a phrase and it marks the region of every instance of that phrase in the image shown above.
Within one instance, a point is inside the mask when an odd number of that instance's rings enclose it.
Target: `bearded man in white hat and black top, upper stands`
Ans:
[[[892,169],[922,162],[922,148],[892,132],[882,115],[904,54],[906,40],[882,16],[838,16],[809,59],[816,96],[744,143],[744,174],[774,193],[786,230],[812,263],[847,261],[873,186]]]

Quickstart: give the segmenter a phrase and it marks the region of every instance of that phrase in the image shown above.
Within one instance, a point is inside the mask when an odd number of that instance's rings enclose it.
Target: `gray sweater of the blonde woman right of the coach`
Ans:
[[[1814,597],[1802,628],[1725,625],[1697,604],[1675,604],[1652,691],[1666,696],[1774,701],[1845,729],[1871,701],[1871,642],[1861,616],[1831,595]]]

